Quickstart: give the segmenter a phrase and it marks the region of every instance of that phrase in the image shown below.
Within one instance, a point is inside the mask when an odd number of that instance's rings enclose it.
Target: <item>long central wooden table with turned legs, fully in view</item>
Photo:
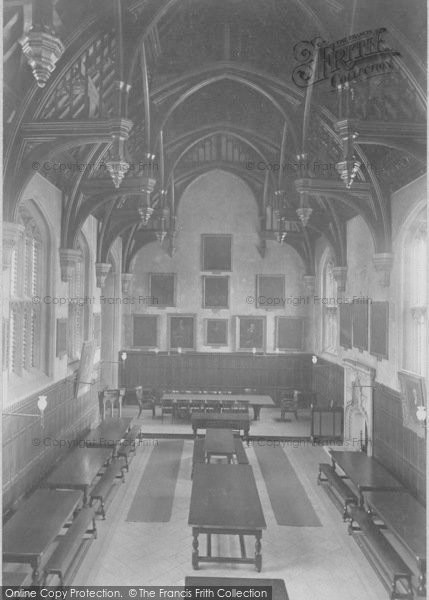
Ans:
[[[249,465],[196,465],[188,524],[192,526],[194,569],[199,562],[231,562],[254,564],[261,570],[261,538],[266,523]],[[200,533],[207,534],[207,556],[198,554]],[[212,556],[211,534],[238,535],[241,557]],[[244,535],[255,536],[255,558],[246,556]]]

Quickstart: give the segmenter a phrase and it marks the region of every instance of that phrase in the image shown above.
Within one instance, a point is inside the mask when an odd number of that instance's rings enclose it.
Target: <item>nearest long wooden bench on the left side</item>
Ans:
[[[90,528],[91,523],[92,528]],[[86,533],[91,533],[94,538],[97,537],[94,511],[89,507],[82,508],[73,519],[67,533],[46,563],[44,567],[44,585],[46,585],[48,575],[57,575],[60,585],[64,585],[65,574],[76,557]]]

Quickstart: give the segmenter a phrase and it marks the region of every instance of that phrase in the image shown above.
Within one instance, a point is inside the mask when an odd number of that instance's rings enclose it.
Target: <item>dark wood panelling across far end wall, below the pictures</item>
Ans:
[[[281,387],[310,389],[308,354],[253,355],[192,352],[154,354],[128,351],[122,385],[186,390],[255,388],[260,392]]]

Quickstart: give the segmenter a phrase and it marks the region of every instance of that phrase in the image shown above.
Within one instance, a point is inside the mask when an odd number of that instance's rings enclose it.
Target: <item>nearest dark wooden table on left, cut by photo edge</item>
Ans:
[[[3,562],[30,564],[36,584],[43,555],[81,501],[79,491],[34,492],[3,528]]]

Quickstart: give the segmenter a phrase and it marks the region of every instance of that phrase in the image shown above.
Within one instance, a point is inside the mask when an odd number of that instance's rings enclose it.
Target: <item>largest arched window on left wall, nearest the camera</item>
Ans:
[[[46,236],[27,205],[20,207],[18,222],[24,231],[11,260],[8,370],[22,377],[45,371]]]

